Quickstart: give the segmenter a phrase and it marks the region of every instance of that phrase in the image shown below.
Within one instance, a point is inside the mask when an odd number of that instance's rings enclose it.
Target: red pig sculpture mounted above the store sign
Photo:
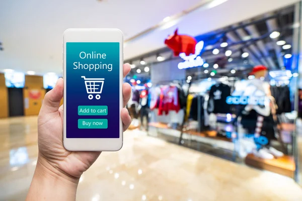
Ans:
[[[174,56],[178,56],[184,52],[186,56],[195,54],[195,46],[197,41],[195,38],[187,35],[178,35],[178,29],[175,30],[174,35],[170,35],[166,40],[165,44],[173,50]]]

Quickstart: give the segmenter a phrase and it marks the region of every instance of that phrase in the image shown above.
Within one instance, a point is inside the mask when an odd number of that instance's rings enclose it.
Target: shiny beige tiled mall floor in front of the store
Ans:
[[[24,200],[37,157],[37,118],[0,120],[0,200]],[[139,131],[83,174],[77,200],[302,200],[290,178],[203,154]]]

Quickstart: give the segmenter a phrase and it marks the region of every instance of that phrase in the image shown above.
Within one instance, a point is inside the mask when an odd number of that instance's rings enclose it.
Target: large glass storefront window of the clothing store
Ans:
[[[158,53],[148,62],[153,86],[141,112],[148,134],[297,180],[295,12],[291,6],[195,36],[195,54]],[[144,107],[136,104],[130,114]]]

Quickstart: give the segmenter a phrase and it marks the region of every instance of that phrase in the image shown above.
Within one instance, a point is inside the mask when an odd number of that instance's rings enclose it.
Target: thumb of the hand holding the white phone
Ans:
[[[63,88],[63,79],[59,78],[53,89],[45,94],[40,112],[49,114],[58,111],[63,98]]]

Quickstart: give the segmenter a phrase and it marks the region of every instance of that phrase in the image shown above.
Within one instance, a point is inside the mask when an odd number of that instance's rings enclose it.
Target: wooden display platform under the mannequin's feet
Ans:
[[[274,159],[262,159],[254,154],[248,154],[245,163],[260,169],[268,170],[293,178],[295,165],[292,156],[283,156]]]

